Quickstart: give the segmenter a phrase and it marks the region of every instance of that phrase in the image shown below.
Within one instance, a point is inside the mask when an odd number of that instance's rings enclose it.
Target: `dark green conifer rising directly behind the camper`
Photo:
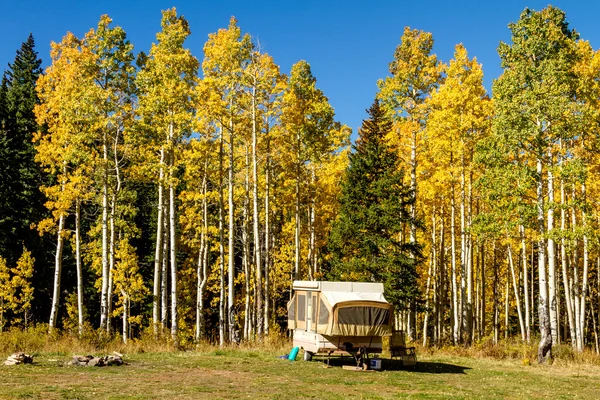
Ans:
[[[385,141],[392,128],[379,101],[368,110],[359,138],[349,156],[342,182],[338,220],[330,250],[330,278],[383,282],[386,298],[396,306],[417,296],[419,249],[400,241],[411,222],[411,190],[403,183],[397,154]]]

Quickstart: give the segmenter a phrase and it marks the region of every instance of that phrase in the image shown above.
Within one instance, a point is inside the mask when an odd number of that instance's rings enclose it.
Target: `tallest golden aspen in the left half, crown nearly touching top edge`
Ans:
[[[177,346],[177,253],[175,232],[177,218],[175,186],[177,178],[175,177],[175,168],[179,162],[181,140],[188,136],[191,130],[193,119],[192,95],[193,88],[196,85],[198,60],[188,49],[183,47],[186,38],[190,35],[187,20],[183,16],[177,16],[175,8],[163,11],[162,14],[162,31],[156,34],[158,43],[152,44],[145,65],[137,75],[137,86],[139,88],[138,114],[143,126],[152,135],[153,142],[151,146],[159,154],[159,159],[153,161],[155,165],[158,164],[157,169],[162,171],[164,177],[163,181],[158,182],[159,194],[162,194],[163,186],[167,188],[168,193],[171,338]],[[164,164],[161,162],[164,162]],[[161,174],[159,173],[159,175]],[[159,214],[163,212],[160,208],[157,211]],[[157,242],[161,240],[160,233],[157,231]],[[157,300],[154,299],[154,301]],[[154,324],[156,324],[156,320]]]

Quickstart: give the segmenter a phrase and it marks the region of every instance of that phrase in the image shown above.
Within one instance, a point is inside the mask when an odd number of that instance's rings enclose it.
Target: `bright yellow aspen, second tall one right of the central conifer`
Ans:
[[[476,59],[470,60],[462,45],[455,48],[454,59],[446,69],[446,78],[439,90],[428,100],[431,107],[427,121],[428,146],[435,154],[434,158],[443,171],[449,172],[454,192],[456,176],[460,176],[460,311],[455,311],[454,339],[462,338],[470,343],[473,336],[473,275],[470,254],[472,243],[470,232],[471,214],[468,204],[472,195],[468,182],[472,176],[472,159],[475,146],[487,134],[489,117],[492,113],[491,102],[483,87],[483,71]],[[440,161],[442,160],[442,161]],[[459,166],[457,167],[458,164]],[[456,171],[458,170],[458,171]],[[454,197],[451,197],[451,210],[454,214]],[[451,223],[454,217],[451,217]],[[454,243],[454,240],[453,240]],[[454,254],[453,254],[454,256]],[[455,262],[453,262],[453,271]],[[453,276],[456,275],[453,272]],[[454,282],[453,282],[454,285]],[[455,298],[454,309],[457,309]],[[457,310],[458,311],[458,310]],[[462,321],[462,325],[458,324]],[[460,333],[457,331],[460,329]]]

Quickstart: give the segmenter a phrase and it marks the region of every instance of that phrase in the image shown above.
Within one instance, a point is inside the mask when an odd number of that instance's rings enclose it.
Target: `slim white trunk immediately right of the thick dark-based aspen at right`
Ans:
[[[552,164],[552,154],[549,153],[549,163]],[[548,168],[548,302],[550,305],[550,330],[552,333],[552,342],[558,343],[558,314],[556,299],[556,246],[552,238],[554,229],[554,176],[552,170]]]

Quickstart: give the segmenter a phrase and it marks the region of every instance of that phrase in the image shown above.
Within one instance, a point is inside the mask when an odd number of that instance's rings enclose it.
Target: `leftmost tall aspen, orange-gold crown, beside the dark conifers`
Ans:
[[[62,251],[65,239],[65,218],[74,202],[89,196],[95,124],[98,121],[99,92],[93,84],[90,66],[95,56],[81,41],[68,33],[61,43],[52,43],[52,64],[37,83],[40,104],[35,114],[47,131],[34,135],[36,161],[46,172],[56,176],[57,184],[42,188],[49,201],[46,207],[53,217],[41,221],[38,230],[57,235],[55,272],[49,329],[56,327],[60,300]],[[76,210],[77,211],[77,210]],[[77,227],[78,228],[78,227]],[[76,235],[79,239],[79,235]],[[77,254],[79,256],[79,254]],[[77,261],[78,276],[81,263]],[[78,284],[80,330],[82,319],[82,284]]]

